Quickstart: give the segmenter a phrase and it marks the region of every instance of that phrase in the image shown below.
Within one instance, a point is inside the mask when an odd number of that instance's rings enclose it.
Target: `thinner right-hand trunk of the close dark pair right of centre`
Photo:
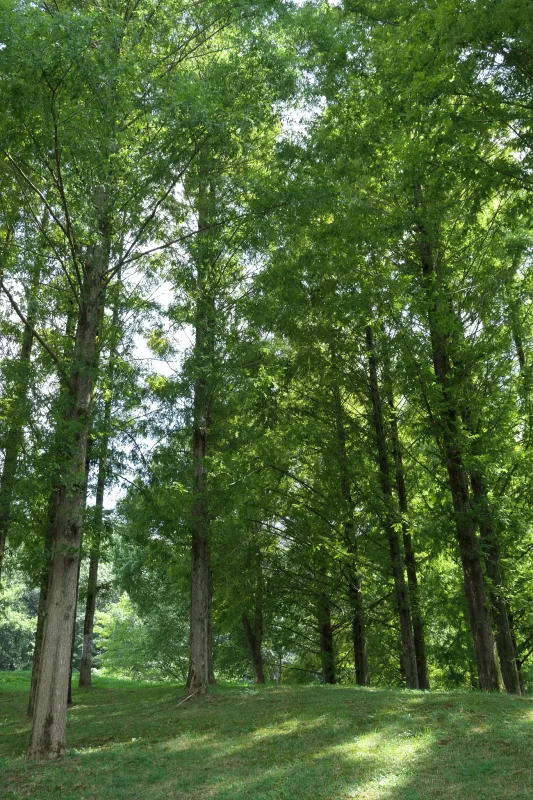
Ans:
[[[407,588],[409,591],[409,603],[413,620],[413,638],[416,653],[416,668],[418,672],[418,686],[420,689],[429,689],[429,670],[426,655],[426,640],[424,636],[424,620],[420,606],[420,590],[418,588],[418,573],[416,557],[413,546],[413,539],[407,522],[407,488],[405,485],[405,474],[403,468],[402,449],[400,436],[398,433],[398,419],[394,408],[394,395],[390,376],[388,376],[388,401],[390,406],[390,436],[392,442],[392,452],[396,474],[396,494],[398,496],[398,506],[402,515],[402,539],[405,555],[405,567],[407,570]]]

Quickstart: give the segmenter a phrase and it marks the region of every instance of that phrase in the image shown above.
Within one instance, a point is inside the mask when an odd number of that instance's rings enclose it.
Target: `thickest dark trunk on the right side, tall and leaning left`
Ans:
[[[476,536],[468,475],[464,465],[457,397],[452,387],[450,334],[453,334],[453,315],[447,307],[446,294],[439,285],[431,243],[424,227],[419,227],[419,248],[428,301],[428,323],[433,352],[435,378],[442,399],[434,414],[438,422],[441,445],[450,483],[457,542],[463,567],[464,585],[470,628],[474,642],[479,685],[481,689],[499,689],[498,667],[494,656],[490,613],[485,595],[481,566],[480,543]],[[441,307],[441,298],[442,307]]]

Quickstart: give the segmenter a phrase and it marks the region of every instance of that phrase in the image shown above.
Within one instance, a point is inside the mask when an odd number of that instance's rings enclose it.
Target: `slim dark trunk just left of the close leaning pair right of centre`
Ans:
[[[332,348],[332,361],[335,362]],[[345,507],[344,539],[351,561],[348,564],[348,597],[352,609],[352,638],[354,650],[355,681],[358,686],[369,686],[368,653],[365,632],[365,608],[363,602],[363,582],[359,573],[357,536],[354,525],[354,503],[350,485],[350,466],[346,448],[346,428],[344,408],[338,384],[333,386],[333,405],[339,457],[341,495]]]

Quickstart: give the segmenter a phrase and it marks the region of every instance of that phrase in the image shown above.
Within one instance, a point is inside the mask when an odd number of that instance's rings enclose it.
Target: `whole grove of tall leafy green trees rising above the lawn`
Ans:
[[[532,12],[0,0],[30,759],[94,667],[527,690]]]

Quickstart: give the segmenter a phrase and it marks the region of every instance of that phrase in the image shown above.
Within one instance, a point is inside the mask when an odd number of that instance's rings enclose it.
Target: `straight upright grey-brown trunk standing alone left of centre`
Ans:
[[[194,363],[196,380],[193,404],[193,506],[191,558],[191,610],[189,694],[204,695],[213,675],[212,579],[209,558],[209,501],[207,456],[211,416],[214,356],[214,300],[210,286],[208,245],[209,205],[212,190],[201,183],[198,190],[198,255]]]

